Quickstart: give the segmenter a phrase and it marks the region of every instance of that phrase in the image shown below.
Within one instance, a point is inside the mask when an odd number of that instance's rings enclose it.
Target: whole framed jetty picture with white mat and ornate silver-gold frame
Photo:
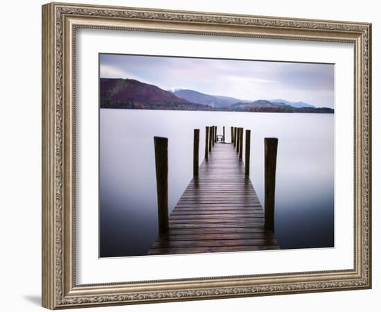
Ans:
[[[371,24],[49,3],[42,304],[371,287]]]

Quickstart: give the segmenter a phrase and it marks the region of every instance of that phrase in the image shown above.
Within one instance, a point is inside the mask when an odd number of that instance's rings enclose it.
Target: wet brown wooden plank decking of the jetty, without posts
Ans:
[[[216,143],[170,214],[168,233],[148,254],[279,249],[264,214],[236,148]]]

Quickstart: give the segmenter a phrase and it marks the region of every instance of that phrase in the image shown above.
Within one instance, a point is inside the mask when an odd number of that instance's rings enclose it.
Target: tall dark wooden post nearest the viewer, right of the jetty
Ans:
[[[274,232],[275,173],[278,139],[265,138],[265,229]]]

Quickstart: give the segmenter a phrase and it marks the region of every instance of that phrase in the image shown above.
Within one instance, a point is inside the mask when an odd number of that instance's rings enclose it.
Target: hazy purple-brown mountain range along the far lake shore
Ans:
[[[181,87],[170,91],[134,79],[100,78],[100,107],[138,110],[333,113],[328,107],[282,99],[247,101]]]

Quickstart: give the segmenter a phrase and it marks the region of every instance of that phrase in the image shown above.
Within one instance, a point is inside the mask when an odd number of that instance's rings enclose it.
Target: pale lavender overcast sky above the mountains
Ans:
[[[130,78],[241,100],[334,105],[334,65],[100,54],[100,77]]]

